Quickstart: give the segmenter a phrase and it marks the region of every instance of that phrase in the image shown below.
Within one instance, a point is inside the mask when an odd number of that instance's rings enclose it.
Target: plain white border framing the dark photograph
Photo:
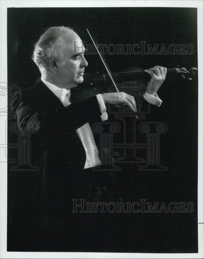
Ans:
[[[7,164],[0,163],[0,258],[203,258],[203,1],[85,1],[85,0],[1,0],[0,2],[0,82],[7,82],[7,8],[10,7],[191,7],[198,10],[198,253],[75,253],[75,252],[7,252]],[[179,26],[179,25],[178,25]],[[7,105],[7,100],[4,98]],[[0,116],[0,132],[7,116]],[[5,136],[0,136],[0,143]],[[0,158],[5,156],[0,149]]]

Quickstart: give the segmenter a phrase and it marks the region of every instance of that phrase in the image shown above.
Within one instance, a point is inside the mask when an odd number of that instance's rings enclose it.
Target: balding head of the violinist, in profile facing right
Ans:
[[[36,42],[32,59],[46,81],[66,89],[83,82],[88,65],[83,42],[69,27],[49,28]]]

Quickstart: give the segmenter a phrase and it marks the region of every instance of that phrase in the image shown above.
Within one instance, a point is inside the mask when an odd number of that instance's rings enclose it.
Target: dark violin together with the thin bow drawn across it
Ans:
[[[112,73],[108,67],[108,64],[105,62],[104,57],[100,54],[100,51],[88,29],[87,32],[98,51],[98,54],[104,64],[107,73],[85,73],[84,82],[81,85],[78,85],[78,87],[72,89],[72,99],[74,101],[78,102],[86,98],[95,96],[99,93],[108,92],[108,89],[111,86],[115,87],[115,90],[119,92],[118,89],[120,89],[123,86],[124,82],[128,82],[130,88],[131,86],[147,86],[148,82],[151,79],[151,76],[140,67],[123,68],[122,71],[118,70],[116,73]],[[181,75],[182,78],[192,81],[197,78],[198,69],[192,67],[189,70],[187,70],[185,67],[179,68],[179,66],[177,66],[177,68],[167,68],[166,77],[169,74],[173,73]]]

